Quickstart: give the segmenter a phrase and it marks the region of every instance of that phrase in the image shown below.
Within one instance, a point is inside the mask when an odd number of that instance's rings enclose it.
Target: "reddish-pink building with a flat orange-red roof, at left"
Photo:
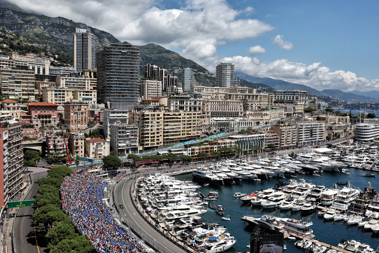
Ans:
[[[28,115],[31,116],[31,123],[36,127],[56,126],[59,123],[58,105],[53,103],[31,103],[28,102]]]

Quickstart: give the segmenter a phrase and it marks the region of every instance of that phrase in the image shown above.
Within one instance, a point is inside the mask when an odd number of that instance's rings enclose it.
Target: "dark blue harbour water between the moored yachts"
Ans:
[[[359,187],[362,191],[365,189],[365,186],[368,185],[368,182],[371,182],[374,189],[379,190],[379,173],[377,173],[377,178],[368,178],[363,176],[363,174],[366,173],[365,170],[354,168],[349,168],[349,170],[351,174],[319,172],[318,174],[320,174],[320,176],[298,174],[298,178],[294,179],[308,179],[308,182],[312,182],[317,185],[325,185],[327,188],[331,188],[335,182],[349,181],[354,187]],[[192,174],[178,175],[177,179],[191,180]],[[287,181],[289,180],[289,177],[281,180]],[[379,233],[373,234],[372,231],[366,232],[363,227],[359,228],[358,225],[347,225],[343,221],[324,221],[323,219],[317,217],[318,211],[311,215],[302,216],[299,211],[281,211],[280,208],[263,209],[262,207],[255,206],[251,208],[250,205],[246,206],[240,198],[233,197],[235,192],[250,194],[256,190],[271,188],[278,181],[279,179],[277,178],[269,178],[262,179],[261,182],[240,181],[236,185],[208,185],[200,187],[198,191],[202,192],[205,196],[207,196],[210,191],[217,190],[219,192],[219,198],[216,201],[209,201],[210,204],[216,206],[222,205],[222,207],[225,208],[224,217],[229,216],[232,218],[231,221],[222,220],[221,216],[218,215],[215,210],[208,207],[208,211],[203,215],[205,221],[219,222],[221,226],[227,227],[230,234],[234,235],[236,243],[226,252],[249,252],[249,249],[246,246],[250,244],[250,234],[254,229],[254,226],[241,220],[241,217],[246,214],[253,215],[257,218],[262,215],[270,214],[281,218],[297,218],[306,220],[307,222],[313,222],[313,225],[311,225],[310,228],[313,229],[315,238],[326,244],[331,244],[334,246],[337,246],[341,239],[357,240],[361,243],[369,244],[374,250],[376,250],[379,246]],[[285,252],[301,251],[294,246],[295,241],[296,240],[285,239],[284,244],[287,245],[287,250],[285,250]]]

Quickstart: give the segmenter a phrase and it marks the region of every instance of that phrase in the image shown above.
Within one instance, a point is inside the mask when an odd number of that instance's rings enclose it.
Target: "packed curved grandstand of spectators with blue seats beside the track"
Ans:
[[[119,226],[102,201],[107,183],[95,174],[71,174],[61,185],[62,208],[75,227],[99,252],[146,252],[138,240]]]

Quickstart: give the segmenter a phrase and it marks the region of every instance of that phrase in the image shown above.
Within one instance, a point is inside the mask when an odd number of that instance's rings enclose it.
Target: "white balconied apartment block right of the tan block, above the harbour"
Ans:
[[[298,148],[324,143],[324,121],[297,122],[293,125],[296,126],[298,130]]]

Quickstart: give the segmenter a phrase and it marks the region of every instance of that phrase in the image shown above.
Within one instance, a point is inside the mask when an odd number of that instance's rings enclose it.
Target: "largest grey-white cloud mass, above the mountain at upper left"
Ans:
[[[226,0],[187,0],[180,9],[164,9],[160,0],[10,0],[20,8],[53,17],[66,17],[108,31],[133,44],[156,43],[184,48],[192,60],[215,57],[226,41],[254,39],[274,29],[257,19],[239,19],[254,13],[238,11]],[[251,14],[250,14],[251,15]]]

